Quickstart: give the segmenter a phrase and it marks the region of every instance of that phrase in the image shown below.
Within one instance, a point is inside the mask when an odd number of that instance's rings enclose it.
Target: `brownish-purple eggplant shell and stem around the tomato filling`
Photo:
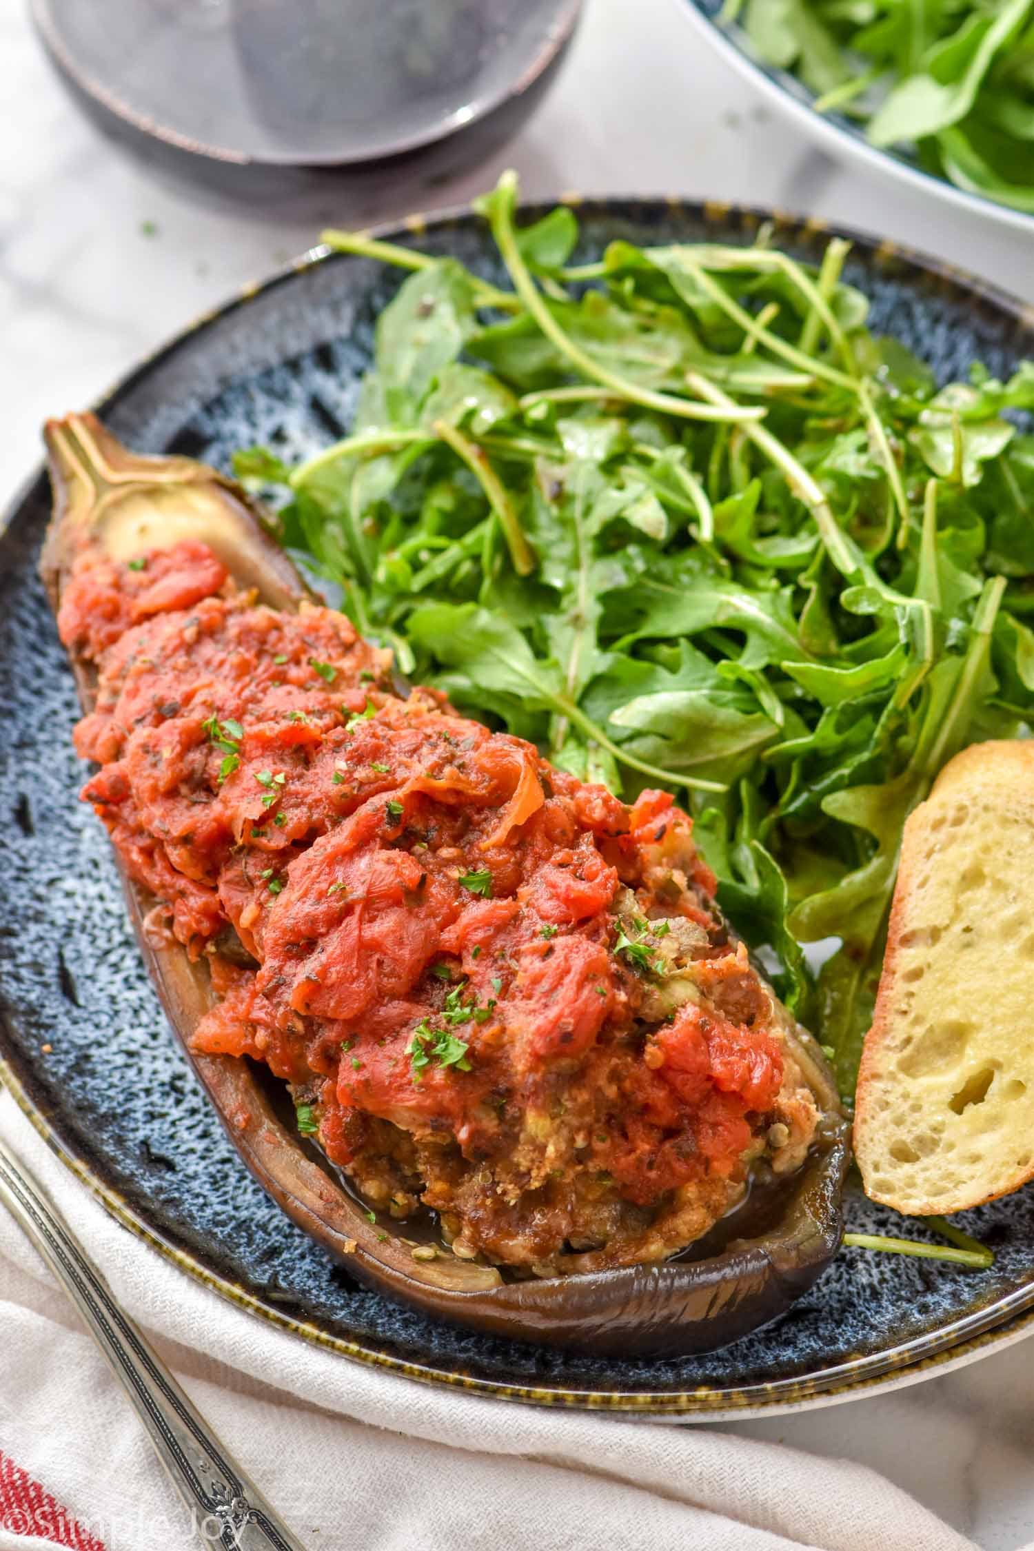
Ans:
[[[308,596],[259,507],[233,481],[192,459],[136,456],[91,414],[48,422],[45,440],[54,512],[40,572],[54,611],[84,548],[118,560],[188,537],[211,544],[231,575],[273,608],[296,608]],[[88,710],[93,668],[74,659],[73,668]],[[402,1239],[389,1218],[371,1222],[330,1166],[321,1166],[279,1121],[246,1061],[191,1048],[191,1035],[214,1002],[208,966],[191,963],[167,934],[149,929],[155,898],[127,878],[122,883],[169,1022],[233,1145],[291,1221],[358,1281],[433,1318],[491,1335],[600,1356],[677,1356],[712,1351],[777,1318],[837,1253],[848,1124],[814,1039],[788,1014],[788,1038],[823,1118],[809,1157],[780,1185],[775,1221],[757,1236],[733,1238],[704,1259],[533,1281],[504,1281],[493,1266],[442,1249],[434,1259],[414,1259],[412,1238]]]

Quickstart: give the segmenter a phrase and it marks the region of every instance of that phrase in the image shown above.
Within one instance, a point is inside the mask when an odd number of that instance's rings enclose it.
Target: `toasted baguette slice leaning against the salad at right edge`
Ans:
[[[907,1213],[1034,1177],[1034,741],[964,749],[905,824],[854,1151]]]

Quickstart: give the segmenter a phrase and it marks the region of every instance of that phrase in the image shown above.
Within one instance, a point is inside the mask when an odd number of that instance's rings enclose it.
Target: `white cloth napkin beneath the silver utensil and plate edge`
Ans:
[[[433,1390],[308,1346],[127,1233],[6,1093],[0,1134],[310,1551],[974,1551],[850,1459]],[[2,1207],[0,1450],[107,1551],[195,1545],[122,1391]],[[0,1529],[0,1551],[47,1545]]]

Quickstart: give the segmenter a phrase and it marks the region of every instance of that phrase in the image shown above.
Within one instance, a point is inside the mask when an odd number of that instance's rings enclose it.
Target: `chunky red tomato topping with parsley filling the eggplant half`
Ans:
[[[84,797],[211,963],[197,1047],[288,1079],[375,1205],[612,1263],[705,1231],[766,1137],[800,1162],[814,1104],[671,797],[400,698],[344,616],[257,605],[200,543],[82,555],[59,625],[101,670]]]

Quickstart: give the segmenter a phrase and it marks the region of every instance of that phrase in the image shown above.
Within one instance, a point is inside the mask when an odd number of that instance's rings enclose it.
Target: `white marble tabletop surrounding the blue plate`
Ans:
[[[12,492],[43,416],[79,408],[192,316],[308,247],[467,200],[502,166],[530,197],[677,192],[777,205],[876,231],[1034,301],[1029,237],[815,152],[701,50],[682,0],[588,0],[570,59],[522,133],[434,188],[336,180],[276,202],[188,189],[73,107],[23,0],[0,5],[0,473]],[[1034,1537],[1034,1342],[893,1393],[733,1430],[884,1472],[981,1551]],[[862,1504],[860,1511],[862,1509]],[[902,1551],[907,1548],[902,1546]]]

